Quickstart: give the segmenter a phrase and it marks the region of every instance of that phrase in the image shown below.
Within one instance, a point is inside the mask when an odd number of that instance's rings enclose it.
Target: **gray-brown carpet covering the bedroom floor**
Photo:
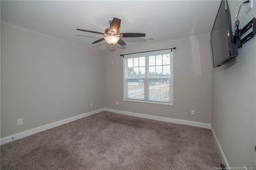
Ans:
[[[110,112],[1,146],[1,170],[212,170],[222,160],[210,129]]]

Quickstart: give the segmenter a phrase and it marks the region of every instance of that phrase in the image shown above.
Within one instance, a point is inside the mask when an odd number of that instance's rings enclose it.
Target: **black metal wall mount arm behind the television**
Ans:
[[[248,30],[252,28],[252,32],[247,34],[244,38],[241,40],[241,36],[244,35]],[[254,17],[244,28],[236,30],[236,35],[234,36],[234,43],[237,44],[238,48],[241,48],[242,45],[246,42],[248,42],[250,39],[254,37],[256,34],[256,18]]]

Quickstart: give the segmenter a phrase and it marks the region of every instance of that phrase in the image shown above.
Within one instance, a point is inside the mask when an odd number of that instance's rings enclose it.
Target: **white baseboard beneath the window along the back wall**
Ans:
[[[156,121],[163,121],[163,122],[169,122],[169,123],[178,123],[178,124],[189,125],[189,126],[193,126],[193,127],[210,128],[209,123],[185,121],[185,120],[181,120],[181,119],[171,119],[171,118],[167,118],[167,117],[145,115],[145,114],[140,114],[140,113],[120,111],[120,110],[114,110],[114,109],[108,109],[108,108],[105,108],[104,110],[109,111],[109,112],[113,112],[113,113],[119,113],[119,114],[122,114],[122,115],[141,117],[141,118],[152,119],[152,120],[156,120]]]

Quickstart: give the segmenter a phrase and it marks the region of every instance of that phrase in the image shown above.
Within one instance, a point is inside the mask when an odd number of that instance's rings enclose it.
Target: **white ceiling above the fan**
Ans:
[[[86,47],[106,51],[100,34],[108,21],[120,18],[120,33],[145,33],[145,38],[122,38],[126,46],[210,34],[220,0],[188,1],[1,1],[1,20]]]

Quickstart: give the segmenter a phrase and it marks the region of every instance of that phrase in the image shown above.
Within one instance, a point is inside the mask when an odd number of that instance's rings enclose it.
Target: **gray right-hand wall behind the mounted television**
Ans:
[[[244,1],[228,1],[232,18]],[[241,8],[240,28],[256,16],[255,3],[246,14]],[[232,23],[233,24],[233,23]],[[256,38],[238,49],[236,59],[212,69],[211,124],[230,167],[256,168]]]

